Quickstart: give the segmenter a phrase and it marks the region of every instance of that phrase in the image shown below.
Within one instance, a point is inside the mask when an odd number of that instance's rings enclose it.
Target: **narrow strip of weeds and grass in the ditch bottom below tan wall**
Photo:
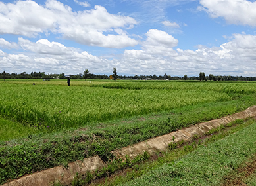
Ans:
[[[178,158],[184,157],[184,155],[188,155],[190,152],[198,149],[201,145],[208,145],[209,143],[213,143],[214,141],[220,140],[234,134],[234,132],[238,132],[242,130],[246,126],[250,124],[254,124],[254,119],[249,119],[243,121],[242,119],[238,119],[234,122],[227,124],[226,126],[222,126],[215,131],[211,132],[210,136],[207,136],[205,139],[195,139],[192,143],[183,142],[183,143],[176,143],[176,147],[178,149],[172,149],[170,151],[156,153],[155,155],[149,157],[147,153],[144,153],[142,156],[138,156],[136,159],[130,161],[126,157],[126,161],[119,162],[118,160],[113,160],[110,162],[107,167],[103,168],[102,170],[97,170],[93,174],[88,172],[85,175],[77,176],[74,180],[76,183],[82,183],[80,185],[86,185],[92,181],[92,177],[105,177],[105,179],[95,180],[91,183],[91,185],[101,185],[101,186],[110,186],[110,185],[118,185],[121,183],[126,183],[127,181],[131,181],[137,177],[142,176],[143,174],[150,172],[153,169],[161,167],[163,164],[170,164],[172,166],[172,170],[174,169],[173,165],[174,160],[178,160]],[[198,136],[200,137],[200,136]],[[175,138],[173,138],[175,139]],[[132,163],[130,163],[132,162]],[[171,163],[170,163],[171,162]],[[107,170],[107,171],[106,171]],[[115,173],[113,174],[113,170]],[[116,172],[116,170],[122,170],[121,172]],[[93,176],[92,176],[93,175]],[[90,179],[88,179],[90,178]],[[229,179],[227,177],[226,179]],[[253,181],[253,174],[247,178],[246,183],[252,183]],[[58,183],[58,182],[57,182]],[[57,186],[57,184],[53,184]],[[59,183],[60,186],[61,183]],[[72,184],[74,185],[74,184]]]

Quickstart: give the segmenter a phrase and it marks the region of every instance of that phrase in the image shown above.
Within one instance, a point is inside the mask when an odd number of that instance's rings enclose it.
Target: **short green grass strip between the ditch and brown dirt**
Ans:
[[[256,123],[214,143],[200,145],[186,157],[153,168],[124,185],[220,185],[224,176],[255,155],[255,130]]]

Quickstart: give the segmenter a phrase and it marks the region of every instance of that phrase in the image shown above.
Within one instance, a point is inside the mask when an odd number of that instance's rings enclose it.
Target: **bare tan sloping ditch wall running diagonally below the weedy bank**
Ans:
[[[195,124],[194,126],[182,128],[181,130],[171,132],[163,136],[147,139],[146,141],[111,151],[111,153],[115,157],[125,160],[126,157],[133,159],[138,155],[143,154],[144,152],[153,154],[155,152],[166,151],[171,143],[191,141],[193,137],[203,136],[204,134],[207,134],[209,130],[216,129],[220,126],[225,126],[226,124],[235,121],[236,119],[247,119],[249,117],[256,117],[256,106],[249,107],[240,113],[235,113],[233,115],[221,117],[220,119]],[[76,161],[68,164],[68,168],[57,166],[55,168],[50,168],[41,172],[36,172],[34,174],[21,177],[20,179],[14,180],[10,183],[5,183],[3,186],[48,186],[51,182],[56,180],[60,180],[61,183],[67,185],[72,182],[74,176],[76,176],[76,173],[86,174],[87,172],[99,170],[106,165],[107,164],[103,162],[103,160],[101,160],[101,158],[98,156],[85,158],[83,161]]]

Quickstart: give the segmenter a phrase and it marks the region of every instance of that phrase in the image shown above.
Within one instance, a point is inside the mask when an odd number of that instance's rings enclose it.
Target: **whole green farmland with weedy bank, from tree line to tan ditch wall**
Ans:
[[[109,160],[114,149],[256,105],[254,82],[8,80],[0,89],[0,184]]]

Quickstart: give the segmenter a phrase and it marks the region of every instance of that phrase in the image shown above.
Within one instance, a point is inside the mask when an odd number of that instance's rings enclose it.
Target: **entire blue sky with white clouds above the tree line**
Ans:
[[[255,0],[0,0],[0,72],[256,76]]]

